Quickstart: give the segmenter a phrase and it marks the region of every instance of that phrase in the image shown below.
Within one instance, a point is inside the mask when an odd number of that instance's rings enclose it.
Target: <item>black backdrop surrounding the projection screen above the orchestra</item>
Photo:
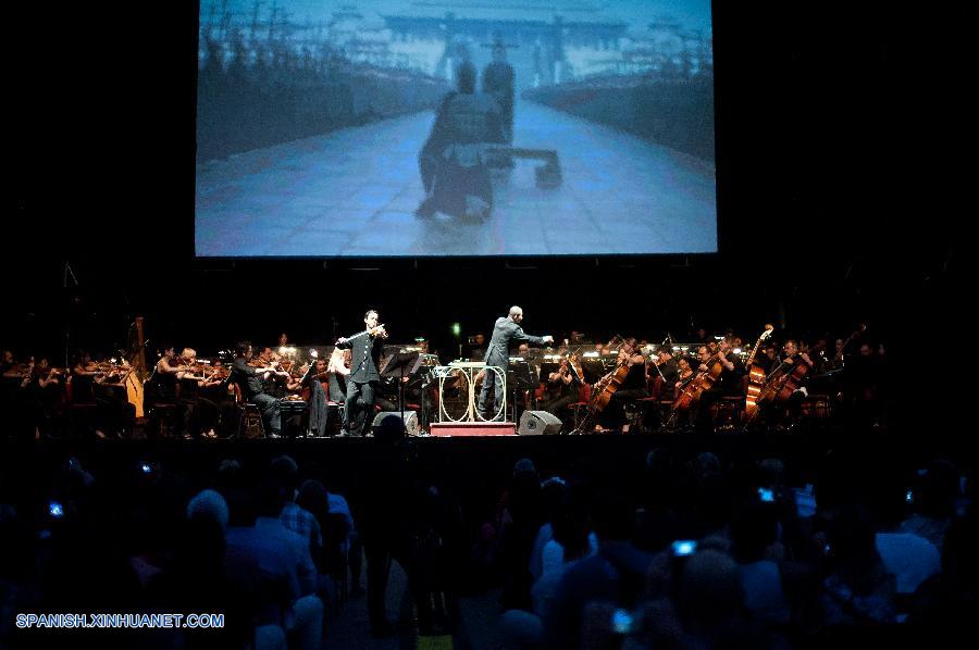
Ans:
[[[282,330],[330,342],[375,307],[446,361],[453,322],[486,333],[519,303],[533,334],[597,338],[865,321],[928,373],[929,346],[966,335],[964,10],[717,3],[717,255],[215,262],[193,255],[185,4],[12,10],[3,347],[57,358],[71,325],[109,350],[137,314],[205,355]]]

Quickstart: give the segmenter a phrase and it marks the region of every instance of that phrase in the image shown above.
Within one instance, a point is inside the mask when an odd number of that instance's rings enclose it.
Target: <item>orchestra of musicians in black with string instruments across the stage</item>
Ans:
[[[388,343],[375,314],[364,322],[363,332],[333,346],[294,347],[283,335],[277,347],[256,348],[257,355],[248,345],[235,357],[222,352],[200,359],[194,348],[177,353],[166,343],[147,366],[149,373],[137,372],[125,354],[94,359],[78,351],[75,363],[65,368],[52,366],[47,358],[18,359],[8,349],[2,353],[2,399],[23,404],[14,428],[34,438],[128,437],[136,428],[135,413],[144,411],[139,422],[151,423],[145,427],[148,436],[234,438],[245,402],[258,405],[269,437],[281,435],[286,413],[298,413],[290,435],[322,438],[368,432],[374,414],[398,403],[398,384],[405,383],[411,396],[406,401],[417,402],[411,408],[420,411],[425,430],[445,411],[438,407],[443,396],[433,371],[449,366],[414,343]],[[587,342],[580,332],[572,334],[563,345],[546,337],[541,348],[517,349],[515,341],[510,370],[515,364],[526,370],[520,375],[519,395],[507,400],[506,420],[516,421],[523,409],[538,409],[560,418],[562,433],[582,435],[792,430],[813,417],[880,418],[878,375],[884,350],[869,343],[865,325],[839,338],[782,342],[776,340],[779,333],[772,325],[753,342],[730,332],[716,337],[705,332],[702,343],[673,341],[668,335],[660,345],[618,335]],[[391,354],[410,350],[426,358],[418,376],[375,378]],[[363,375],[365,380],[351,384],[355,357],[371,372]],[[524,386],[525,377],[534,384]],[[127,395],[127,384],[140,385],[139,403],[133,403],[132,391]],[[371,388],[376,397],[363,395]],[[351,390],[356,409],[345,412]],[[446,390],[455,390],[451,382]],[[449,398],[456,399],[455,392],[447,392]],[[88,414],[94,422],[79,426],[84,405],[94,407]]]

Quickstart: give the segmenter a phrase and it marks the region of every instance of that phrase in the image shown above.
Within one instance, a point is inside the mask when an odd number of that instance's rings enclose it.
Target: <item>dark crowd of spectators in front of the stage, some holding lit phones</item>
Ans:
[[[617,471],[552,459],[561,476],[543,483],[534,461],[510,460],[459,495],[400,418],[370,445],[357,480],[256,454],[72,458],[33,495],[4,477],[0,645],[22,640],[17,612],[80,609],[225,614],[220,632],[133,632],[129,646],[320,648],[346,615],[338,589],[360,589],[362,552],[364,633],[379,637],[459,633],[460,595],[487,591],[507,648],[929,642],[967,630],[979,605],[979,520],[946,460],[835,449],[816,467],[677,445]],[[389,621],[392,562],[412,620]]]

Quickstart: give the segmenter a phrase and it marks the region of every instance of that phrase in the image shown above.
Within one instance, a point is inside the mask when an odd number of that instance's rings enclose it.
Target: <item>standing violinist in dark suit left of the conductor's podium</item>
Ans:
[[[344,430],[340,436],[362,436],[363,426],[374,411],[374,391],[381,382],[381,353],[387,332],[377,324],[377,312],[368,310],[363,315],[364,332],[350,338],[340,338],[336,347],[350,349],[352,360],[347,376],[347,401],[344,409]]]

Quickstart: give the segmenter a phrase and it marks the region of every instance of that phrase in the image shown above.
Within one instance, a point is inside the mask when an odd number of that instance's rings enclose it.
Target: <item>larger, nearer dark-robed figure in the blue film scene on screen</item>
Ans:
[[[472,63],[463,61],[456,72],[458,90],[442,100],[419,154],[425,198],[416,215],[485,220],[493,211],[486,148],[506,141],[503,116],[495,99],[475,91]]]

